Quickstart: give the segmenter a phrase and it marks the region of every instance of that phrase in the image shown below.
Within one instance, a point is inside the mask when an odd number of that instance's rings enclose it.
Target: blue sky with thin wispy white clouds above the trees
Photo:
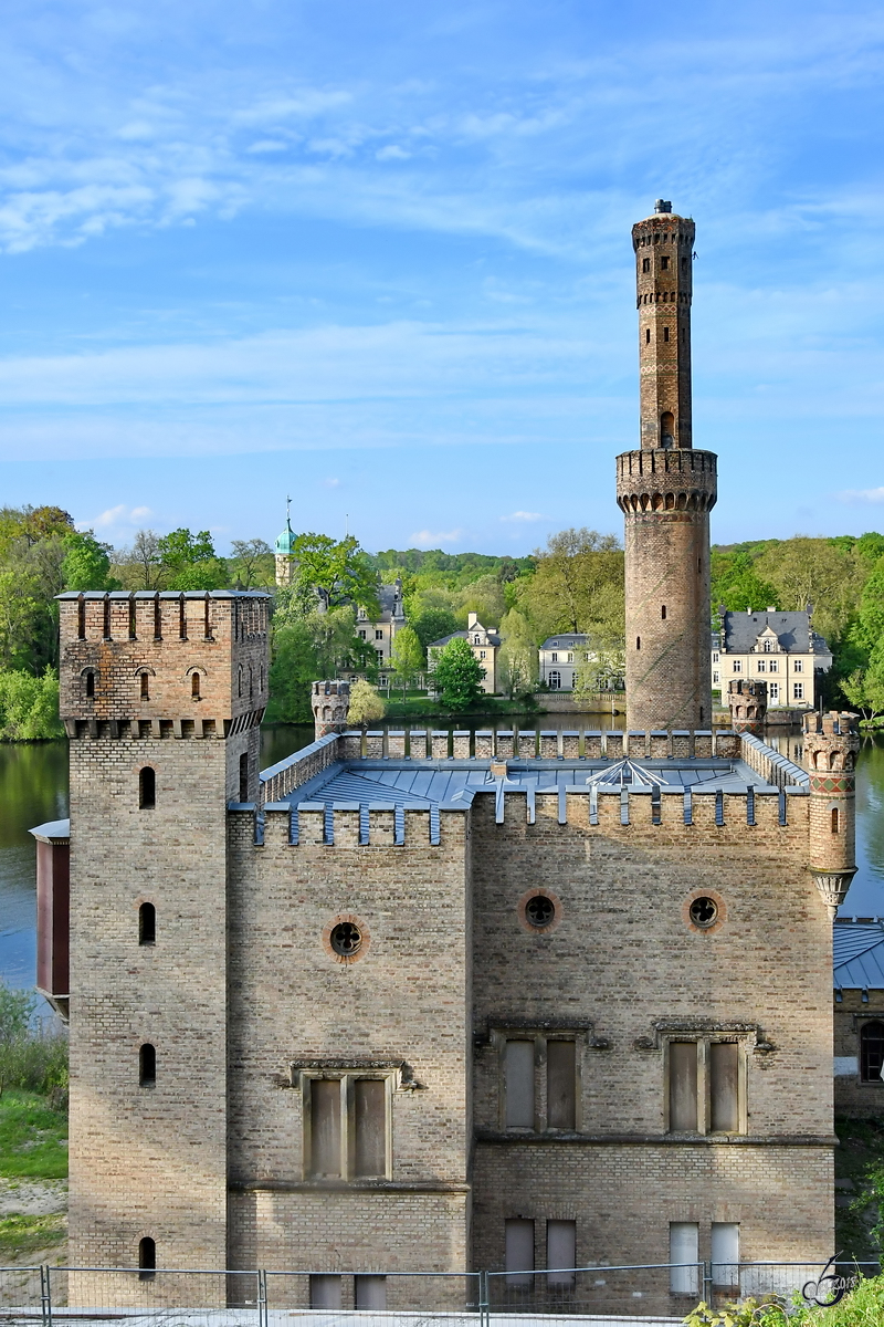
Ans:
[[[0,504],[620,532],[630,230],[697,224],[713,540],[884,528],[884,9],[7,0]]]

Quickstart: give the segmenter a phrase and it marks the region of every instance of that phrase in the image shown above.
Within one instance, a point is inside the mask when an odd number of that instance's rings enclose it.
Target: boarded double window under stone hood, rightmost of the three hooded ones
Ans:
[[[738,1042],[671,1040],[668,1104],[671,1133],[745,1131],[742,1052]]]

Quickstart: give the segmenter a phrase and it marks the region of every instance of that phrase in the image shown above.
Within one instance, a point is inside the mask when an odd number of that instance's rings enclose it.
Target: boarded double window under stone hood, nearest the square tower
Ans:
[[[305,1173],[311,1180],[388,1173],[387,1076],[304,1078]]]

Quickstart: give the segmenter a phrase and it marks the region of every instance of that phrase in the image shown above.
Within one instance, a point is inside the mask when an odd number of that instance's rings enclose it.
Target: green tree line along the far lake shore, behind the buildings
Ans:
[[[396,633],[391,667],[403,693],[425,669],[428,645],[464,630],[470,612],[500,632],[500,677],[512,698],[537,689],[537,648],[557,633],[588,637],[578,693],[623,670],[623,549],[614,535],[565,529],[531,556],[514,559],[414,548],[372,555],[353,536],[304,533],[292,567],[292,584],[274,592],[269,722],[307,722],[314,678],[354,670],[376,682],[374,641],[359,636],[359,610],[371,621],[380,585],[395,579],[407,626]],[[126,548],[114,548],[94,531],[78,531],[60,507],[0,510],[0,736],[61,731],[56,594],[224,588],[274,588],[266,541],[235,540],[231,555],[221,556],[209,531],[143,529]],[[835,660],[827,701],[860,709],[865,718],[884,714],[883,535],[799,535],[713,548],[713,626],[721,606],[803,609],[808,602]],[[448,690],[463,706],[467,693],[477,693],[481,673],[470,682],[468,652],[460,653]],[[445,669],[440,683],[444,677]]]

